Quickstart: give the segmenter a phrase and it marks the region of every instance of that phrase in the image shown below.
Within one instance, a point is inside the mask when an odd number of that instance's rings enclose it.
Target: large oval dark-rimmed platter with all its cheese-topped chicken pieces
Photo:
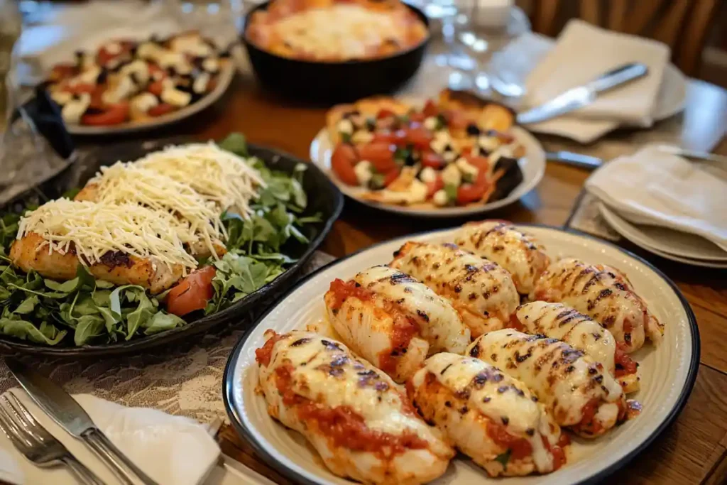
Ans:
[[[333,262],[228,361],[233,425],[302,484],[579,484],[675,419],[694,313],[633,254],[503,221]]]

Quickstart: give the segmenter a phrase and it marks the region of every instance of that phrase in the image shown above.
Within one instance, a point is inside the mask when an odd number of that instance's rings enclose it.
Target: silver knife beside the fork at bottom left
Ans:
[[[111,443],[65,390],[21,361],[8,357],[4,360],[33,401],[64,430],[85,441],[124,485],[134,485],[134,476],[145,485],[158,485]]]

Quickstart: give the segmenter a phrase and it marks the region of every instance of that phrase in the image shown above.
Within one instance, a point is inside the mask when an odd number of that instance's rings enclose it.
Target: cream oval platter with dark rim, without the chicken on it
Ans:
[[[459,456],[442,478],[432,482],[435,485],[563,485],[601,480],[654,441],[675,419],[694,386],[699,366],[699,330],[694,313],[672,281],[648,262],[590,236],[542,226],[523,228],[537,236],[553,257],[579,257],[624,270],[636,291],[666,324],[664,341],[658,348],[646,345],[634,355],[640,363],[641,389],[632,396],[643,404],[644,411],[595,441],[574,438],[569,462],[550,475],[488,478],[471,460]],[[334,278],[350,278],[372,265],[389,262],[405,241],[451,241],[454,231],[387,241],[321,268],[286,294],[238,342],[225,369],[225,406],[238,432],[273,468],[302,484],[352,483],[329,473],[305,439],[274,421],[268,415],[265,399],[255,393],[254,350],[264,343],[263,332],[304,329],[324,316],[323,296]]]

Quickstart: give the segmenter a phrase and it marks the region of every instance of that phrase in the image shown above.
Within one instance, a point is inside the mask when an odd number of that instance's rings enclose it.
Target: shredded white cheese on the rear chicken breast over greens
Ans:
[[[184,183],[214,202],[218,212],[252,215],[249,201],[258,196],[265,181],[254,168],[234,153],[212,142],[169,146],[150,153],[136,165]]]

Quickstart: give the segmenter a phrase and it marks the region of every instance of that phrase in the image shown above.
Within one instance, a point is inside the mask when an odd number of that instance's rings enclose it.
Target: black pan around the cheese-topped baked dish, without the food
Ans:
[[[270,1],[265,1],[247,12],[241,40],[260,83],[297,100],[340,103],[393,92],[414,76],[429,44],[427,36],[421,44],[389,57],[342,63],[289,59],[260,49],[247,39],[250,16],[267,9],[268,4]],[[406,7],[429,27],[421,10]]]

